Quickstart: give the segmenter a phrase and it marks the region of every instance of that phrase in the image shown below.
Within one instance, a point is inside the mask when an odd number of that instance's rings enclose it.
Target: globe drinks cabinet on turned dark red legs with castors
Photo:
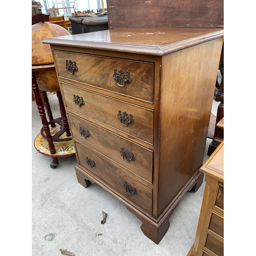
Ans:
[[[50,46],[42,45],[40,41],[46,34],[60,36],[67,35],[68,31],[64,28],[56,30],[54,27],[58,27],[57,25],[45,23],[48,20],[49,14],[39,13],[32,17],[32,91],[42,122],[42,129],[34,140],[34,146],[40,154],[51,157],[50,166],[56,168],[59,164],[58,157],[75,155],[75,151],[53,58],[48,51]],[[61,115],[58,118],[53,118],[47,92],[56,92]]]

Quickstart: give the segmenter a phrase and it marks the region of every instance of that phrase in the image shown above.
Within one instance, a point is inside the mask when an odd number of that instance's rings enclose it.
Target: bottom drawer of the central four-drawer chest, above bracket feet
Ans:
[[[152,215],[152,188],[75,142],[78,163]]]

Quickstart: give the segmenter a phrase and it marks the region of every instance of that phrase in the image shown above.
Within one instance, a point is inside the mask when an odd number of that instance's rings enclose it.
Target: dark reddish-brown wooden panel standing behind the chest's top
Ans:
[[[222,27],[223,0],[106,0],[110,29]]]

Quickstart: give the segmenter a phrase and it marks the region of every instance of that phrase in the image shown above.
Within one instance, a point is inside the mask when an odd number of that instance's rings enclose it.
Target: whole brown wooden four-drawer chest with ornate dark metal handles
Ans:
[[[113,29],[48,38],[80,184],[97,183],[159,243],[200,167],[220,29]]]

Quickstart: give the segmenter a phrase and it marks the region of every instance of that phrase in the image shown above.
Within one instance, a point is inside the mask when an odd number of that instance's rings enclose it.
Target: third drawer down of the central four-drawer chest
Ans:
[[[153,151],[68,113],[72,135],[152,183]]]

